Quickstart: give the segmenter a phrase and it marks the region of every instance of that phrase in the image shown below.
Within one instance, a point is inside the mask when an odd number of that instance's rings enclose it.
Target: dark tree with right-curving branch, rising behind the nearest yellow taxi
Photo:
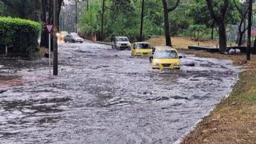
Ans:
[[[166,46],[172,46],[171,37],[169,34],[169,12],[174,11],[179,6],[179,1],[177,0],[175,6],[172,6],[171,8],[168,8],[167,1],[162,0],[162,5],[164,7],[164,18],[165,18],[165,42]]]

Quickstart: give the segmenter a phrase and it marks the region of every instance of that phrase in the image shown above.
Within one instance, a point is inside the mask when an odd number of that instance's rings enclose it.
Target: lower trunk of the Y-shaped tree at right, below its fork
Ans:
[[[226,26],[225,22],[221,22],[219,27],[219,52],[224,53],[226,51]]]

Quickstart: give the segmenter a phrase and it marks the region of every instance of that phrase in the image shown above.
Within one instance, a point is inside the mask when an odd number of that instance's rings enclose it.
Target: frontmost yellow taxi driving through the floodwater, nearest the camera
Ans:
[[[152,58],[153,69],[180,69],[180,58],[177,50],[169,46],[155,47],[155,53]]]

